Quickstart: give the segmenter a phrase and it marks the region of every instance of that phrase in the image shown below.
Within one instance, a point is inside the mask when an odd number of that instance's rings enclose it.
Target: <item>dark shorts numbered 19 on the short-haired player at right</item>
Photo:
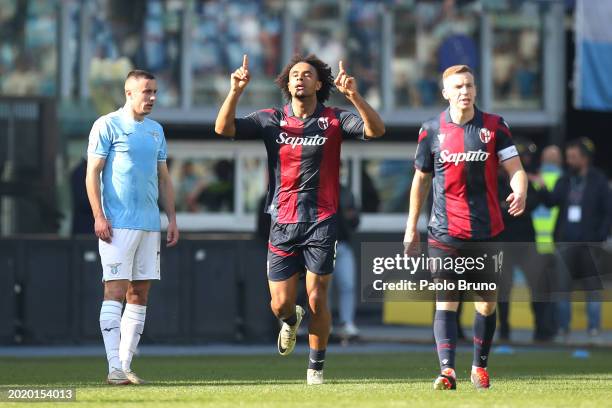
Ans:
[[[452,244],[430,239],[428,244],[428,262],[434,281],[463,281],[474,288],[497,289],[503,273],[503,257],[504,251],[497,237]]]

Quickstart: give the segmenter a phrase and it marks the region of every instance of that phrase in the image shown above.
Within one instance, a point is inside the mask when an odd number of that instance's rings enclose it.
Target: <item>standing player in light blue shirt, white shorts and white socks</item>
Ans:
[[[131,71],[125,106],[96,120],[89,134],[85,184],[102,261],[100,330],[109,384],[144,383],[130,364],[144,328],[151,280],[160,279],[160,193],[168,216],[167,246],[179,239],[164,131],[146,118],[156,93],[152,74]]]

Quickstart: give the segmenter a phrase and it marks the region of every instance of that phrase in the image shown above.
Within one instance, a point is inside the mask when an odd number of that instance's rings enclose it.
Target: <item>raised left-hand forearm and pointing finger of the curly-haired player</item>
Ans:
[[[222,136],[236,136],[236,106],[242,91],[246,88],[251,75],[249,74],[249,57],[245,54],[242,57],[242,66],[234,71],[230,79],[230,91],[219,109],[217,120],[215,121],[215,132]]]

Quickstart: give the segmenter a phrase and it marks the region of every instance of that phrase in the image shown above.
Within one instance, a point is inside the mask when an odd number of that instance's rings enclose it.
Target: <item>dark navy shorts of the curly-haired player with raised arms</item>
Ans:
[[[317,275],[332,273],[337,235],[336,216],[295,224],[272,221],[268,241],[268,279],[283,281],[306,270]]]

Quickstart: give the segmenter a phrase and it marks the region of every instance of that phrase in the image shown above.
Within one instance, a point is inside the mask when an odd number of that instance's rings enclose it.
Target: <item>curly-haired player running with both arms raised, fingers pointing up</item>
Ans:
[[[323,364],[331,316],[327,290],[334,269],[338,209],[340,145],[344,138],[380,137],[380,116],[357,91],[355,78],[339,63],[331,68],[314,55],[294,56],[276,84],[288,104],[235,118],[240,95],[251,79],[248,58],[231,75],[215,132],[236,139],[263,139],[268,153],[266,212],[272,217],[268,242],[268,282],[272,312],[282,322],[278,352],[293,351],[305,311],[296,305],[299,274],[306,271],[311,314],[308,384],[323,383]],[[323,105],[336,86],[359,116]]]

